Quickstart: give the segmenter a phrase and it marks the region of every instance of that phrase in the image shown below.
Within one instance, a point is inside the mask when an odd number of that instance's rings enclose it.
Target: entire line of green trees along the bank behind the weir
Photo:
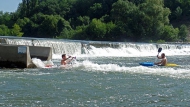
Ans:
[[[187,41],[189,10],[190,0],[22,0],[0,11],[0,36]]]

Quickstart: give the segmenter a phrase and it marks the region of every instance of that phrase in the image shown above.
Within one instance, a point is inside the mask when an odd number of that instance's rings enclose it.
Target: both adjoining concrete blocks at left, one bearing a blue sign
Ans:
[[[0,68],[33,68],[31,58],[52,59],[52,48],[0,44]]]

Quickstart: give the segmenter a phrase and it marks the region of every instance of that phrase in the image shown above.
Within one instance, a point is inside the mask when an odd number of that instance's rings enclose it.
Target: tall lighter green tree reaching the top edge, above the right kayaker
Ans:
[[[164,8],[163,0],[146,0],[139,5],[142,14],[141,24],[145,30],[145,39],[158,39],[162,34],[162,25],[169,24],[170,10]]]

